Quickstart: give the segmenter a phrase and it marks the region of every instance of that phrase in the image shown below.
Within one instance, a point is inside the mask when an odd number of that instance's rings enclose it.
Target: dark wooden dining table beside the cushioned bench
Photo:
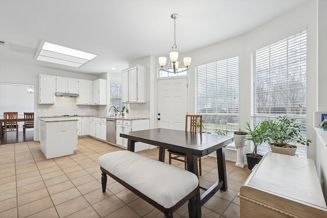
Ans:
[[[197,159],[216,152],[218,165],[218,180],[196,199],[196,217],[201,217],[201,206],[219,190],[227,190],[227,176],[224,147],[231,143],[233,136],[208,133],[194,133],[171,129],[149,129],[121,133],[128,139],[127,150],[134,152],[135,142],[144,142],[159,147],[159,161],[165,162],[165,150],[171,149],[186,154],[188,171],[199,177]],[[200,193],[200,192],[199,192]]]

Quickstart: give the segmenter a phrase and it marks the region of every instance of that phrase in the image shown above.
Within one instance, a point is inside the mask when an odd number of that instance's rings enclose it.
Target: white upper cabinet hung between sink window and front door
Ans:
[[[135,66],[122,71],[122,102],[146,102],[146,74],[144,66]]]

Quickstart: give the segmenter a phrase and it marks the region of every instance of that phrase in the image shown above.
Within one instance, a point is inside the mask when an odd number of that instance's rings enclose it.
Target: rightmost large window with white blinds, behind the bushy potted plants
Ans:
[[[307,32],[303,31],[251,54],[253,124],[279,115],[297,118],[302,134],[307,132]],[[306,146],[297,155],[307,156]],[[268,144],[259,153],[270,150]]]

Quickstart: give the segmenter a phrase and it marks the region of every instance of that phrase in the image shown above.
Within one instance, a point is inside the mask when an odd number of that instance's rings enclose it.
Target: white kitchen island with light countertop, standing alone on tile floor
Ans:
[[[40,120],[40,145],[46,159],[74,154],[77,150],[77,120],[48,117]]]

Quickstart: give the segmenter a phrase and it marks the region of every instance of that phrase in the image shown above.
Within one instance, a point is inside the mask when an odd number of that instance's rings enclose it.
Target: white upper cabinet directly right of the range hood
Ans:
[[[77,98],[78,105],[93,104],[93,81],[78,80],[78,92],[79,92],[79,97]]]

